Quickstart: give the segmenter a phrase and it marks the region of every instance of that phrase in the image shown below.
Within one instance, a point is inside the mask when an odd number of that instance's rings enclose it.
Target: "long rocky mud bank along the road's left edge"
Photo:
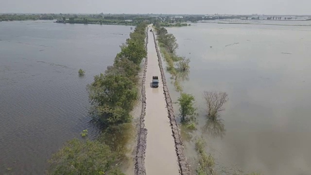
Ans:
[[[148,44],[148,27],[146,31],[146,45],[145,49],[147,51]],[[148,57],[145,58],[145,63],[143,66],[143,76],[142,76],[142,85],[141,85],[141,114],[140,114],[140,123],[138,129],[138,139],[137,139],[137,147],[136,147],[136,157],[135,157],[135,175],[146,175],[145,169],[145,153],[147,146],[147,129],[145,128],[145,115],[146,115],[146,89],[145,89],[145,81],[146,81],[146,71],[147,71],[147,63]]]

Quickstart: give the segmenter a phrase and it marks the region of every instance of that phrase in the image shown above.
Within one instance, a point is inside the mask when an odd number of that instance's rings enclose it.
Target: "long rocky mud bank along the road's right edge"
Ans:
[[[171,123],[171,128],[172,128],[172,133],[173,133],[173,138],[175,142],[175,151],[176,155],[178,158],[178,164],[180,168],[180,174],[181,175],[190,175],[190,169],[189,169],[189,164],[187,162],[187,158],[184,154],[184,145],[182,144],[182,139],[179,133],[178,125],[175,120],[174,116],[174,111],[173,111],[173,102],[169,93],[169,89],[167,87],[165,75],[164,75],[164,70],[162,66],[162,59],[161,59],[161,54],[158,50],[158,45],[156,43],[156,38],[155,38],[155,33],[153,33],[154,40],[155,40],[155,49],[158,57],[158,62],[159,62],[159,67],[161,71],[161,77],[162,77],[162,83],[163,83],[163,90],[164,90],[164,95],[165,95],[165,101],[167,105],[167,110],[168,110],[168,115]],[[148,36],[148,35],[147,35]],[[160,168],[160,167],[159,167]]]

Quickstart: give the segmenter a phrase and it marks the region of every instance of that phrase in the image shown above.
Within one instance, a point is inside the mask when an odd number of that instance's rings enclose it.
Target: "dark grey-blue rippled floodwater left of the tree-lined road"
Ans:
[[[42,175],[66,140],[88,129],[86,85],[120,51],[130,26],[0,22],[0,174]],[[86,70],[84,77],[78,70]]]

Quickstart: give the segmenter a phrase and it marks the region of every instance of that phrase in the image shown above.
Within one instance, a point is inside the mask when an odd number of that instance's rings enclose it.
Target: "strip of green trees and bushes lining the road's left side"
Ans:
[[[124,139],[124,124],[132,121],[130,112],[139,97],[138,72],[141,61],[147,56],[146,27],[145,22],[140,22],[126,43],[121,45],[113,66],[94,76],[94,82],[87,86],[90,115],[92,121],[103,128],[103,136],[92,141],[69,140],[52,155],[47,174],[124,175],[118,166],[124,161],[126,150],[120,140]],[[79,75],[83,74],[84,70],[80,70]],[[82,134],[84,137],[87,135]]]

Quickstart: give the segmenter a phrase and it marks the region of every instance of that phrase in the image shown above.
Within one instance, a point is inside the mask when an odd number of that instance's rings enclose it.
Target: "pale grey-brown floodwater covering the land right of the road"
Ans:
[[[183,132],[187,156],[195,157],[192,140],[203,135],[219,170],[309,175],[310,26],[196,23],[168,31],[177,38],[177,53],[191,58],[183,85],[199,107],[198,130]],[[217,123],[207,123],[204,90],[229,95]]]

